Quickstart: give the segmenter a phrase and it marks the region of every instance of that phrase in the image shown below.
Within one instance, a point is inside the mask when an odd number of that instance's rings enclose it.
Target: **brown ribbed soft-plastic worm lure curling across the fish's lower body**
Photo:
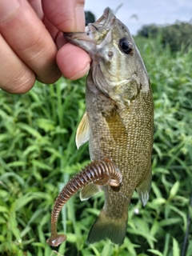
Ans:
[[[122,185],[122,174],[111,158],[102,158],[101,160],[90,162],[80,173],[71,178],[54,202],[51,214],[51,235],[46,240],[50,246],[58,246],[66,241],[66,234],[58,234],[57,232],[58,215],[66,202],[90,182],[94,182],[97,185],[109,185],[114,191],[118,191]]]

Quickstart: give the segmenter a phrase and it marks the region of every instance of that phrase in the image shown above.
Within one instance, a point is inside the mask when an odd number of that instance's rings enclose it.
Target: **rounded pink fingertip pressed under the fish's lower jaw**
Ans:
[[[90,56],[70,43],[58,50],[57,62],[62,74],[71,80],[82,78],[90,70]]]

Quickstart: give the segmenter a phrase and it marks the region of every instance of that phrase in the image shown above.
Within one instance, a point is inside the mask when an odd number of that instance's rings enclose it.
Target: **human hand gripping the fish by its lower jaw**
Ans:
[[[90,56],[66,42],[62,32],[85,30],[84,0],[0,1],[0,88],[29,91],[35,80],[78,79]]]

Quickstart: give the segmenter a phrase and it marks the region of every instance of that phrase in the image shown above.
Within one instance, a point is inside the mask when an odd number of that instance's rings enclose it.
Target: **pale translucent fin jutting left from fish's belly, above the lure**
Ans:
[[[78,125],[78,130],[76,133],[76,146],[79,149],[84,143],[88,142],[90,139],[90,124],[87,117],[87,113],[85,113],[82,117],[81,122]]]

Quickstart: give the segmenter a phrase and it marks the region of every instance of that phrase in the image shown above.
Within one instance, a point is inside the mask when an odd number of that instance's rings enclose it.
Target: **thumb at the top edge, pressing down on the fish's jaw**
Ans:
[[[42,0],[46,18],[62,32],[84,31],[85,0]]]

